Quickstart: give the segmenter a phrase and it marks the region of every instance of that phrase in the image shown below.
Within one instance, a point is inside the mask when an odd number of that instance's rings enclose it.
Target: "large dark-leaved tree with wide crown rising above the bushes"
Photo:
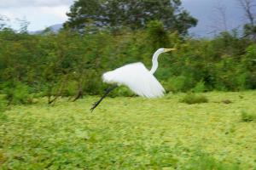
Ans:
[[[197,24],[197,20],[181,7],[180,0],[78,0],[67,16],[69,20],[65,26],[75,29],[126,26],[137,30],[145,28],[151,20],[160,20],[166,29],[186,34]]]

